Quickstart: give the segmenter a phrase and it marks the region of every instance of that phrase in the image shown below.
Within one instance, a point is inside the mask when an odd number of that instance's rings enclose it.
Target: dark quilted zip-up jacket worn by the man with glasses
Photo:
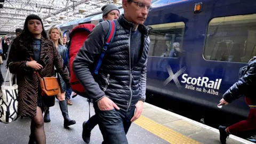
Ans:
[[[105,97],[113,100],[123,110],[134,106],[138,100],[146,99],[146,62],[149,49],[149,28],[140,25],[142,48],[139,61],[131,68],[130,35],[133,24],[121,15],[114,20],[116,32],[113,42],[102,60],[98,75],[91,74],[99,59],[105,37],[109,30],[107,21],[99,23],[84,45],[78,51],[73,62],[73,71],[79,82],[94,101]]]

